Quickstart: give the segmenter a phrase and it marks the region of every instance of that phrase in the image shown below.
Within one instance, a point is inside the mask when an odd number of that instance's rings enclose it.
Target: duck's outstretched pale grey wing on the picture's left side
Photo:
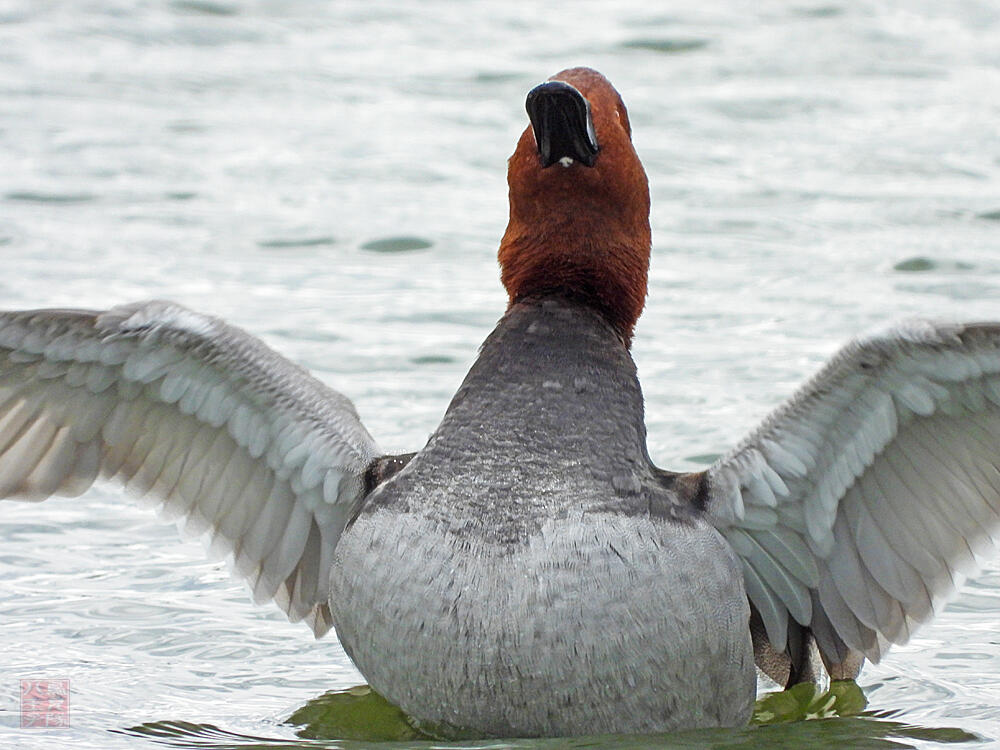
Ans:
[[[0,497],[119,479],[317,637],[378,453],[347,398],[216,318],[160,301],[0,313]]]

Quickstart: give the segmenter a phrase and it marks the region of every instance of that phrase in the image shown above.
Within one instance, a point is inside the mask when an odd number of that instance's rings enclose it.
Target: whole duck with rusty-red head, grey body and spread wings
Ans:
[[[507,308],[422,449],[385,453],[347,397],[172,302],[5,312],[0,497],[152,498],[437,727],[734,727],[758,668],[856,677],[995,552],[1000,323],[863,334],[706,469],[661,469],[628,112],[589,68],[526,110]]]

